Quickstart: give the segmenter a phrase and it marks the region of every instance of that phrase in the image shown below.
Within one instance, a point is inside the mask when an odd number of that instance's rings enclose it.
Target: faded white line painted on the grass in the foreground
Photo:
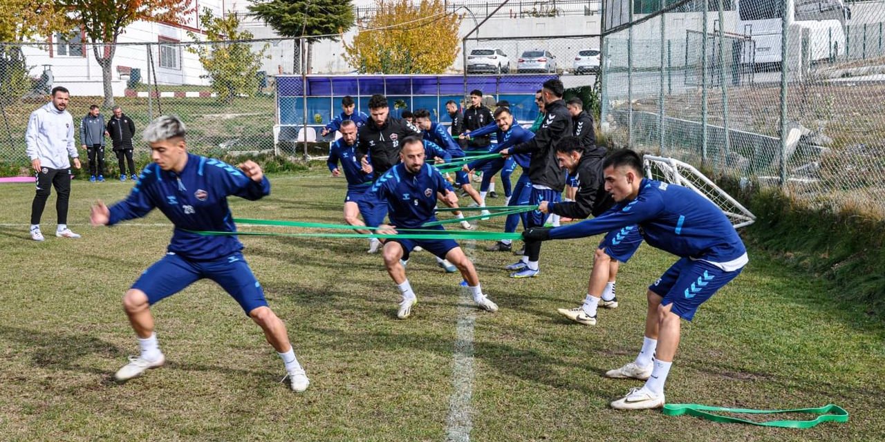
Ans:
[[[463,243],[467,258],[473,261],[475,240]],[[456,327],[455,348],[452,354],[449,416],[446,418],[446,441],[469,442],[473,428],[473,325],[476,323],[476,308],[473,295],[466,287],[461,287],[458,300],[458,325]]]

